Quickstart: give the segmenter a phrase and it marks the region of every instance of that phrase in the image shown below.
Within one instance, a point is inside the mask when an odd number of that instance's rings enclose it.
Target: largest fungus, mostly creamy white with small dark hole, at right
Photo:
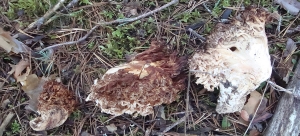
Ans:
[[[219,87],[216,111],[240,111],[246,96],[272,71],[265,23],[270,14],[250,6],[228,24],[219,23],[208,36],[206,49],[189,60],[190,71],[208,91]]]

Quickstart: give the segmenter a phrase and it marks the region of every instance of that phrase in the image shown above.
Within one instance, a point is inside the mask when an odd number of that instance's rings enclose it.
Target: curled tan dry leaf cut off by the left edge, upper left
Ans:
[[[12,51],[14,53],[31,51],[28,46],[11,37],[10,33],[4,31],[2,28],[0,28],[0,47],[7,52]]]

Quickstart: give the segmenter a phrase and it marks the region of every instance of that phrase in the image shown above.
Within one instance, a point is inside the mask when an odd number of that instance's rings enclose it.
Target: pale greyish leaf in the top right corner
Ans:
[[[297,15],[300,10],[300,2],[297,0],[275,0],[274,2],[280,4],[292,15]]]

